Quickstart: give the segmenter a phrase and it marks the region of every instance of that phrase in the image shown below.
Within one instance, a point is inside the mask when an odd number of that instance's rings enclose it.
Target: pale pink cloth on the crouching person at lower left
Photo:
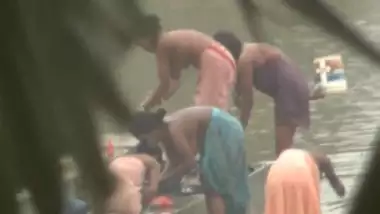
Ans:
[[[118,179],[118,186],[109,201],[109,212],[140,214],[141,187],[144,181],[145,166],[137,158],[119,157],[109,166]]]

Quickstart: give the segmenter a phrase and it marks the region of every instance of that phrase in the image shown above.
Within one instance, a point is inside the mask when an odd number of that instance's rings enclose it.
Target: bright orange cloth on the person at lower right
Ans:
[[[319,170],[306,151],[282,152],[269,170],[265,214],[320,214]]]

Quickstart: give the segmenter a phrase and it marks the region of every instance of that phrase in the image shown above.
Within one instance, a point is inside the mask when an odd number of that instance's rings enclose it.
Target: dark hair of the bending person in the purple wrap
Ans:
[[[220,30],[213,35],[213,38],[226,47],[236,61],[239,59],[243,44],[234,33]]]

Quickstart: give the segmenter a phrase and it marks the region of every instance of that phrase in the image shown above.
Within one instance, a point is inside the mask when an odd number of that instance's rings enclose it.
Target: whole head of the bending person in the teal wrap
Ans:
[[[132,116],[129,130],[139,140],[157,141],[166,125],[165,115],[166,111],[162,108],[156,112],[137,112]]]

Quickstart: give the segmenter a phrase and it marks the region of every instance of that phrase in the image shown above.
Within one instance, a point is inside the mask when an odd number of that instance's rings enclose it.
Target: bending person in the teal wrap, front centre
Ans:
[[[166,150],[170,166],[162,181],[181,180],[197,165],[199,153],[208,213],[244,214],[250,194],[240,122],[225,111],[205,106],[165,115],[163,109],[138,112],[130,123],[138,139],[161,142]]]

